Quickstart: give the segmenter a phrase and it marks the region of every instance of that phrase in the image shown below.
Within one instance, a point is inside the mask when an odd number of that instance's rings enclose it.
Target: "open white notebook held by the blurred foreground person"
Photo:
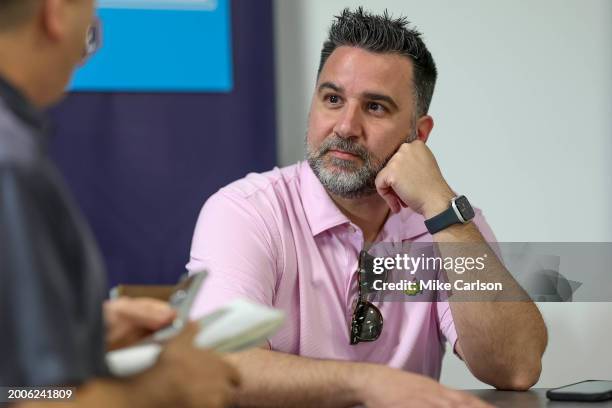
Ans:
[[[264,343],[284,319],[280,310],[235,300],[198,320],[194,345],[219,352],[244,350]],[[131,376],[152,367],[162,349],[159,343],[138,344],[108,352],[106,362],[113,375]]]

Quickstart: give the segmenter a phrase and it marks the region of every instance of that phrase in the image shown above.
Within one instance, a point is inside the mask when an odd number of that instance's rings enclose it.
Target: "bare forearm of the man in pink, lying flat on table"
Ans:
[[[228,354],[240,371],[239,406],[351,407],[367,364],[315,360],[255,349]]]

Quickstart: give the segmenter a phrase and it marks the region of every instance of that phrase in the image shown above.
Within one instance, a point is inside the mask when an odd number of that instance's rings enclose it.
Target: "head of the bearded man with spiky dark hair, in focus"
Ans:
[[[321,51],[306,136],[310,166],[332,194],[374,194],[402,143],[427,140],[434,60],[403,18],[345,9]]]

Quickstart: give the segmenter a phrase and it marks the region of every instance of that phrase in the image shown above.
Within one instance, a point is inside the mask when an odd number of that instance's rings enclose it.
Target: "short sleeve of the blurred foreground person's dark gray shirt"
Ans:
[[[106,373],[101,270],[56,186],[0,167],[0,385],[80,384]],[[73,268],[69,266],[73,265]]]

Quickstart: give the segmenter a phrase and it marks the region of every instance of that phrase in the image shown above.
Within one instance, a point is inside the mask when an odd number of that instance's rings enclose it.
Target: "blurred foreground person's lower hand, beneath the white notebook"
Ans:
[[[221,408],[233,403],[240,385],[238,371],[211,351],[195,348],[198,332],[195,323],[188,324],[166,343],[154,367],[163,373],[163,381],[176,390],[173,407]]]

